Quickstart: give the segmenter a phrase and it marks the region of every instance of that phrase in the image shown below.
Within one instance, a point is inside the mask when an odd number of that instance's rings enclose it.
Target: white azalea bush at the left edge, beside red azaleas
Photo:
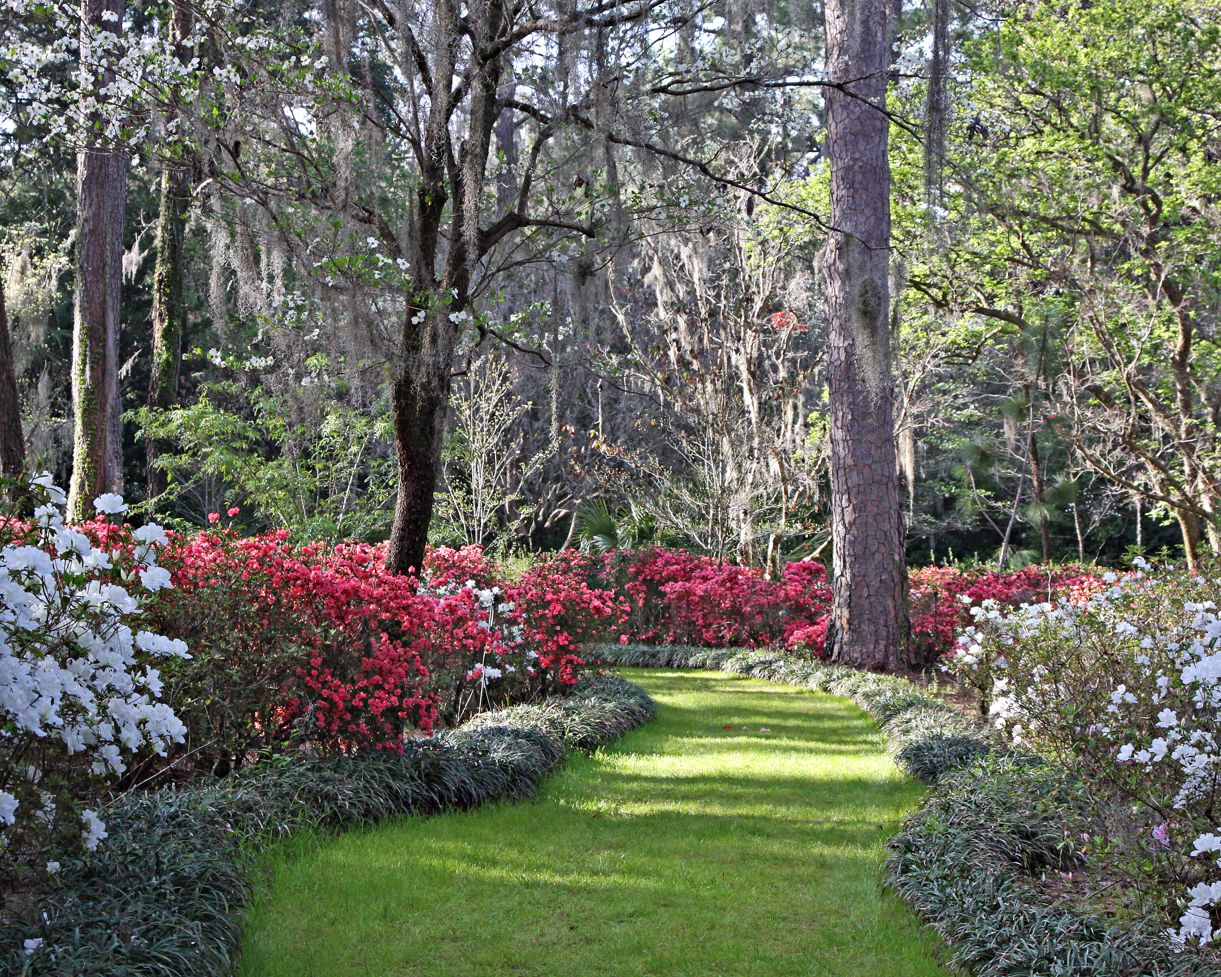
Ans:
[[[160,668],[187,646],[139,627],[142,595],[171,585],[156,565],[167,540],[156,525],[111,525],[126,512],[116,495],[70,528],[49,475],[5,487],[16,502],[0,519],[0,849],[66,834],[94,850],[106,824],[74,799],[186,733],[159,697]]]

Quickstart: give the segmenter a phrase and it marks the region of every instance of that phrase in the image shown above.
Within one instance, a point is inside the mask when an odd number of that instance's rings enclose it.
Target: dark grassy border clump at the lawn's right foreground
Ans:
[[[991,754],[950,773],[890,840],[889,884],[978,977],[1186,977],[1215,962],[1156,924],[1049,898],[1084,857],[1094,800],[1063,768]]]

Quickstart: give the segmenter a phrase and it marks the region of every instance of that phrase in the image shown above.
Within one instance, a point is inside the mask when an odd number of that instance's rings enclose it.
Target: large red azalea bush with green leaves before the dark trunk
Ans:
[[[396,747],[431,729],[443,678],[498,637],[470,590],[420,592],[382,563],[377,547],[297,546],[283,530],[175,539],[176,586],[150,609],[194,655],[175,689],[194,746],[239,763],[303,735]]]

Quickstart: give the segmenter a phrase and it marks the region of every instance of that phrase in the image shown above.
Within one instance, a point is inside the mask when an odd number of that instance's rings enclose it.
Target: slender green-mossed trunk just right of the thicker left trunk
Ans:
[[[148,405],[164,410],[178,401],[178,371],[182,363],[182,234],[189,181],[184,172],[161,173],[161,208],[156,225],[156,269],[153,272],[153,358]],[[165,445],[155,438],[145,443],[148,497],[166,488],[166,475],[156,468]]]

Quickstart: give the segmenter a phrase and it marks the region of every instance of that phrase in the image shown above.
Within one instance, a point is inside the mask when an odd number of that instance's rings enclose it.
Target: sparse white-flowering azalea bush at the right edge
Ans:
[[[1206,944],[1221,923],[1221,579],[1138,559],[1105,581],[1079,605],[984,601],[946,667],[1012,741],[1122,802],[1129,867],[1162,884],[1173,939]]]

